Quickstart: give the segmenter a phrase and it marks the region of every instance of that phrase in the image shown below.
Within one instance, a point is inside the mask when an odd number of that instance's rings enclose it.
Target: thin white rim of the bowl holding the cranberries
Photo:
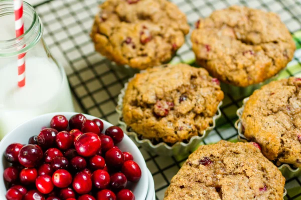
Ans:
[[[6,140],[6,138],[9,137],[9,135],[12,134],[12,132],[14,132],[15,129],[19,128],[20,126],[23,126],[24,124],[28,123],[29,121],[34,121],[34,120],[36,120],[37,118],[40,118],[40,117],[45,117],[45,116],[49,116],[49,117],[50,117],[50,116],[54,116],[54,115],[57,115],[57,114],[62,114],[62,115],[64,115],[64,116],[66,116],[66,115],[72,116],[72,115],[78,114],[78,113],[81,113],[81,112],[50,112],[50,113],[38,115],[38,116],[36,116],[36,117],[34,117],[34,118],[32,118],[32,119],[29,119],[29,120],[27,120],[27,121],[21,123],[20,125],[16,126],[13,130],[11,130],[9,133],[7,133],[7,134],[2,138],[2,140],[0,141],[0,146],[1,146],[1,145],[4,145],[4,141]],[[113,126],[113,124],[111,124],[110,122],[108,122],[108,121],[106,121],[106,120],[103,120],[103,119],[101,119],[101,118],[99,118],[99,117],[96,117],[96,116],[93,116],[93,115],[90,115],[90,114],[85,114],[85,113],[82,113],[82,114],[85,115],[87,118],[98,118],[98,119],[100,119],[100,120],[104,123],[104,126],[105,126],[105,124],[106,124],[107,126]],[[67,117],[67,118],[68,118],[68,117]],[[68,120],[69,120],[69,119],[68,119]],[[145,189],[144,192],[142,193],[142,196],[144,196],[142,199],[145,199],[146,194],[147,194],[147,190],[148,190],[148,178],[149,178],[149,177],[148,177],[148,168],[147,168],[147,166],[146,166],[146,163],[145,163],[145,160],[144,160],[144,158],[143,158],[143,156],[142,156],[142,153],[140,152],[140,150],[139,150],[139,148],[136,146],[136,144],[135,144],[135,143],[129,138],[129,136],[127,136],[126,134],[124,134],[123,139],[125,139],[126,141],[128,141],[128,142],[133,146],[133,148],[135,148],[135,150],[137,150],[137,152],[139,152],[139,153],[137,154],[138,157],[135,156],[135,159],[137,159],[137,160],[143,160],[142,165],[140,164],[139,167],[141,168],[142,174],[146,174],[146,177],[147,177],[147,178],[146,178],[146,181],[144,181],[144,182],[146,182],[147,185],[145,185],[145,187],[143,187],[143,188],[146,188],[146,189]],[[144,175],[144,176],[145,176],[145,175]],[[141,179],[140,179],[140,180],[141,180]],[[145,184],[145,183],[144,183],[144,184]],[[5,194],[4,194],[4,195],[5,195]]]

